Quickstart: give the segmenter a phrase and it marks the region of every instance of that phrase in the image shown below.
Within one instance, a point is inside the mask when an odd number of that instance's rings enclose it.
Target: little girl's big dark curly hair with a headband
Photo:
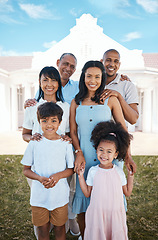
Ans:
[[[124,160],[132,138],[133,136],[123,128],[121,123],[115,123],[112,120],[98,123],[91,133],[91,142],[96,150],[101,141],[114,142],[118,151],[118,160]]]

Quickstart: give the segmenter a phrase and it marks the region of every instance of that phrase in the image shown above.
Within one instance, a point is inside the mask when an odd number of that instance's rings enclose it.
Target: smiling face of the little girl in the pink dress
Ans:
[[[116,145],[111,141],[101,141],[97,147],[97,157],[100,161],[100,167],[111,168],[112,161],[116,158],[118,152],[116,151]]]

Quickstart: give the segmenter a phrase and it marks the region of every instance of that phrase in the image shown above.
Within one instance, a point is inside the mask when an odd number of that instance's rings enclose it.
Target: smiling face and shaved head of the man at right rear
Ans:
[[[120,67],[119,54],[115,51],[107,52],[103,58],[103,65],[105,67],[107,76],[114,79]]]

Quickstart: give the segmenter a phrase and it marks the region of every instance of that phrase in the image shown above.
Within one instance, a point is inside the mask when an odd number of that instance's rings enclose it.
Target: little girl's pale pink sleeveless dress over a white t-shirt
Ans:
[[[126,212],[119,174],[98,167],[86,212],[84,240],[127,240]]]

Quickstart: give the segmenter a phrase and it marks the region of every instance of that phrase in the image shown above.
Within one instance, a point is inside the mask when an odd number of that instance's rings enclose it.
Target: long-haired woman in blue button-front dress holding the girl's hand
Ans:
[[[109,121],[113,116],[126,129],[122,109],[116,97],[110,97],[105,102],[100,101],[100,94],[106,83],[105,68],[99,61],[88,61],[79,81],[79,93],[71,102],[70,107],[70,136],[75,148],[75,172],[85,166],[86,179],[90,167],[99,163],[95,149],[90,142],[94,126],[102,121]],[[82,237],[85,228],[85,212],[90,199],[82,193],[78,176],[76,192],[73,201],[73,212],[78,214],[78,222]],[[99,203],[98,203],[99,204]]]

